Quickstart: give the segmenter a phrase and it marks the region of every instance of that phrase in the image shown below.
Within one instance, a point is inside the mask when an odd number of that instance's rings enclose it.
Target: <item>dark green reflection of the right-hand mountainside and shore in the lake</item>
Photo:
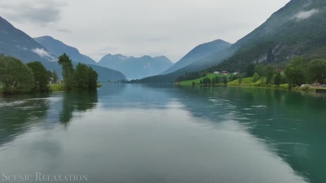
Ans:
[[[179,92],[180,96],[188,97],[180,97],[178,101],[196,117],[218,121],[219,115],[223,115],[219,110],[222,110],[224,113],[235,111],[249,118],[238,121],[243,121],[242,125],[249,127],[250,134],[262,139],[296,172],[312,182],[326,181],[322,164],[326,162],[326,146],[323,145],[326,141],[326,113],[323,112],[326,109],[325,95],[239,87],[182,87]],[[225,103],[233,103],[236,108],[213,106],[209,97],[226,99],[228,101]],[[259,105],[261,107],[257,107]]]

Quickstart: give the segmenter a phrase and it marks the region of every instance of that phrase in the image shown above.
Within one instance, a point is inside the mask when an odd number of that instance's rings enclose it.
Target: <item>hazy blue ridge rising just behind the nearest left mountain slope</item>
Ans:
[[[75,62],[96,65],[95,60],[93,60],[89,56],[79,53],[78,49],[68,46],[59,40],[53,39],[50,36],[42,36],[34,38],[34,40],[44,46],[53,54],[62,55],[63,53],[66,53]]]

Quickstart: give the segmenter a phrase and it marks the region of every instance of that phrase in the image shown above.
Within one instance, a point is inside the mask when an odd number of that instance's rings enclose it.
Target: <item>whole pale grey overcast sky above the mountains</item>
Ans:
[[[107,53],[166,55],[246,36],[289,0],[0,0],[0,16],[31,37],[48,35],[98,61]]]

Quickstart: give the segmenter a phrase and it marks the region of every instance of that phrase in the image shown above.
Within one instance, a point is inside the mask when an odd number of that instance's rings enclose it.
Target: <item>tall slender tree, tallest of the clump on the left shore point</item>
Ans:
[[[71,90],[74,87],[74,69],[72,61],[69,56],[64,53],[59,56],[58,60],[59,65],[62,66],[62,76],[64,81],[64,86],[67,90]]]

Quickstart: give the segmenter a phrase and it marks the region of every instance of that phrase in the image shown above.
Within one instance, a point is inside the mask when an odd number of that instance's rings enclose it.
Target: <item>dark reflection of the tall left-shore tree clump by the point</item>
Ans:
[[[96,106],[97,90],[77,90],[65,92],[60,113],[60,122],[68,125],[74,111],[86,111]]]

